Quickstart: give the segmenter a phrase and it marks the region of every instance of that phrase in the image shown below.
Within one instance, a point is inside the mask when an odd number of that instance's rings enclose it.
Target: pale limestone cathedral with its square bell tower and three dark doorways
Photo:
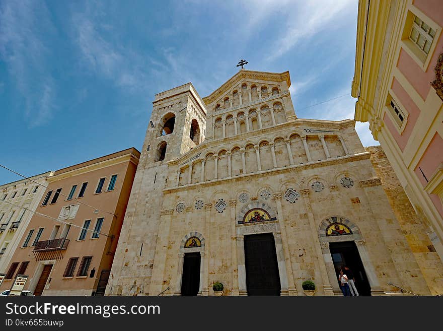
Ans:
[[[360,295],[443,290],[354,120],[297,118],[289,87],[242,69],[205,98],[191,83],[156,95],[107,295],[305,295],[305,280],[341,295],[345,265]]]

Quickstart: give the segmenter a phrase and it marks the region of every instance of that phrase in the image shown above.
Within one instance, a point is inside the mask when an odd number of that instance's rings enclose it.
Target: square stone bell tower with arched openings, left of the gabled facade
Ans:
[[[168,161],[201,144],[205,128],[205,104],[191,83],[156,95],[106,293],[149,293]]]

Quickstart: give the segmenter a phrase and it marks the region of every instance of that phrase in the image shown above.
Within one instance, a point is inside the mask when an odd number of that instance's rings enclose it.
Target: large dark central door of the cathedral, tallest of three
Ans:
[[[245,236],[248,295],[280,295],[280,275],[272,233]]]

